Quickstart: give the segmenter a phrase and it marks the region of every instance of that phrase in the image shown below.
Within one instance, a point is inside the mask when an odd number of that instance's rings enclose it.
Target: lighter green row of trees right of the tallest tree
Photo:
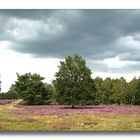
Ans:
[[[100,77],[94,79],[96,86],[95,104],[140,104],[140,79],[130,82],[120,79]]]

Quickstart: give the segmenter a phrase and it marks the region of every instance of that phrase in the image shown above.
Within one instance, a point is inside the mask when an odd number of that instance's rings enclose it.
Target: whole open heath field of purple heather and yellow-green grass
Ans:
[[[0,105],[0,130],[19,131],[138,131],[140,106]]]

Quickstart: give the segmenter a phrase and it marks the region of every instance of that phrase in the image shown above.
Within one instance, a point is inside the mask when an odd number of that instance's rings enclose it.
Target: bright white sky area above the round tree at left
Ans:
[[[16,80],[16,72],[24,74],[27,72],[38,73],[45,77],[45,82],[51,82],[58,70],[59,59],[35,59],[29,55],[15,53],[6,49],[6,42],[0,42],[0,75],[2,91],[7,91]]]

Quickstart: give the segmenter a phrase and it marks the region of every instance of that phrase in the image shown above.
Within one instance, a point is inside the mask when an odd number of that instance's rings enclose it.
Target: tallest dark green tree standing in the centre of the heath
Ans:
[[[86,105],[94,100],[95,85],[86,61],[79,55],[67,56],[60,61],[59,71],[53,82],[59,104]]]

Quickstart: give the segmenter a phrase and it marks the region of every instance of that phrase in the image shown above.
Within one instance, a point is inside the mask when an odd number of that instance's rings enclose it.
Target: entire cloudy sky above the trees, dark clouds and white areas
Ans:
[[[2,91],[16,72],[55,79],[60,60],[79,54],[92,77],[140,76],[140,10],[0,10]]]

